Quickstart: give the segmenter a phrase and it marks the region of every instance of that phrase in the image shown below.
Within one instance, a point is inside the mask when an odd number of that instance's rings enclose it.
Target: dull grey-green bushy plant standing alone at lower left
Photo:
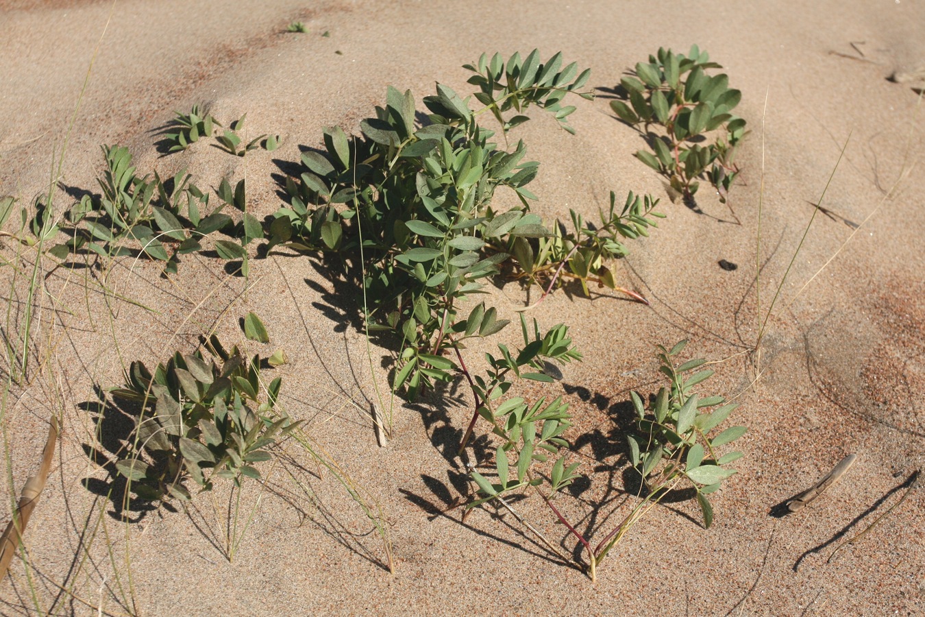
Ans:
[[[128,456],[116,463],[142,499],[190,500],[183,484],[188,477],[202,490],[210,490],[215,478],[238,487],[242,476],[259,478],[253,463],[268,461],[265,448],[300,424],[285,414],[275,416],[280,377],[261,395],[259,356],[248,360],[237,346],[227,352],[215,336],[208,349],[214,359],[177,352],[158,364],[154,375],[133,362],[126,387],[111,391],[142,404]]]

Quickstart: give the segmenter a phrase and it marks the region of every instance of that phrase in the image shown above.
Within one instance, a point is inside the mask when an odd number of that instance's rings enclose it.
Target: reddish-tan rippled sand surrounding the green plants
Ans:
[[[459,510],[444,512],[464,488],[452,452],[471,395],[457,383],[414,404],[396,399],[391,439],[377,447],[369,405],[376,388],[388,391],[381,364],[391,351],[367,352],[356,290],[309,258],[254,260],[246,281],[202,255],[190,255],[169,279],[158,265],[116,260],[105,285],[155,312],[102,293],[102,272],[49,268],[36,301],[35,368],[4,407],[6,504],[38,466],[51,413],[60,414],[62,434],[25,534],[28,559],[15,560],[0,582],[0,612],[925,611],[918,485],[827,561],[905,494],[901,485],[925,459],[923,118],[916,84],[886,79],[925,63],[925,7],[908,0],[305,4],[0,0],[0,195],[31,203],[66,145],[56,204],[69,205],[81,191],[98,191],[100,145],[119,143],[140,169],[164,176],[188,167],[200,186],[246,176],[250,207],[265,216],[281,203],[277,162],[297,161],[325,126],[358,130],[388,84],[411,89],[419,102],[435,81],[466,93],[462,64],[482,52],[538,47],[592,68],[590,85],[612,88],[660,46],[685,51],[697,43],[742,91],[737,112],[753,131],[730,201],[740,224],[715,195],[701,195],[700,212],[672,203],[660,176],[632,156],[644,144],[614,117],[603,91],[575,104],[576,136],[539,114],[515,136],[541,161],[530,188],[542,216],[567,216],[569,207],[592,215],[611,190],[650,192],[668,215],[614,267],[619,283],[651,306],[566,289],[530,312],[546,327],[570,324],[586,358],[565,367],[561,382],[526,390],[572,405],[568,436],[584,477],[562,507],[598,538],[629,511],[625,403],[631,389],[658,388],[656,344],[690,339],[685,353],[718,363],[710,391],[735,397],[734,422],[749,427],[739,473],[713,500],[715,524],[704,530],[690,502],[655,508],[611,551],[592,585],[510,516],[486,509],[462,523]],[[306,33],[285,32],[296,20]],[[247,113],[249,134],[279,134],[282,147],[241,159],[200,142],[163,156],[158,131],[174,110],[193,104],[224,119]],[[760,354],[750,352],[830,176],[823,205],[835,216],[815,217]],[[0,240],[9,259],[15,242]],[[721,259],[738,269],[723,270]],[[28,280],[14,281],[9,265],[2,272],[2,289],[11,290],[6,339],[10,324],[24,327]],[[514,283],[491,298],[504,317],[527,302]],[[263,317],[269,344],[244,340],[238,320],[247,311]],[[87,404],[93,387],[119,385],[122,363],[151,365],[174,349],[190,351],[213,327],[253,352],[285,349],[283,403],[380,510],[394,574],[364,512],[291,442],[263,468],[264,488],[245,483],[239,512],[253,520],[243,533],[239,523],[231,561],[227,488],[197,496],[187,510],[118,518],[117,497],[105,497],[109,475],[87,454],[118,446],[118,426],[96,426],[96,407]],[[498,340],[516,336],[506,330]],[[6,356],[0,362],[6,376]],[[771,516],[849,453],[857,463],[824,497]],[[536,498],[518,507],[573,549]]]

